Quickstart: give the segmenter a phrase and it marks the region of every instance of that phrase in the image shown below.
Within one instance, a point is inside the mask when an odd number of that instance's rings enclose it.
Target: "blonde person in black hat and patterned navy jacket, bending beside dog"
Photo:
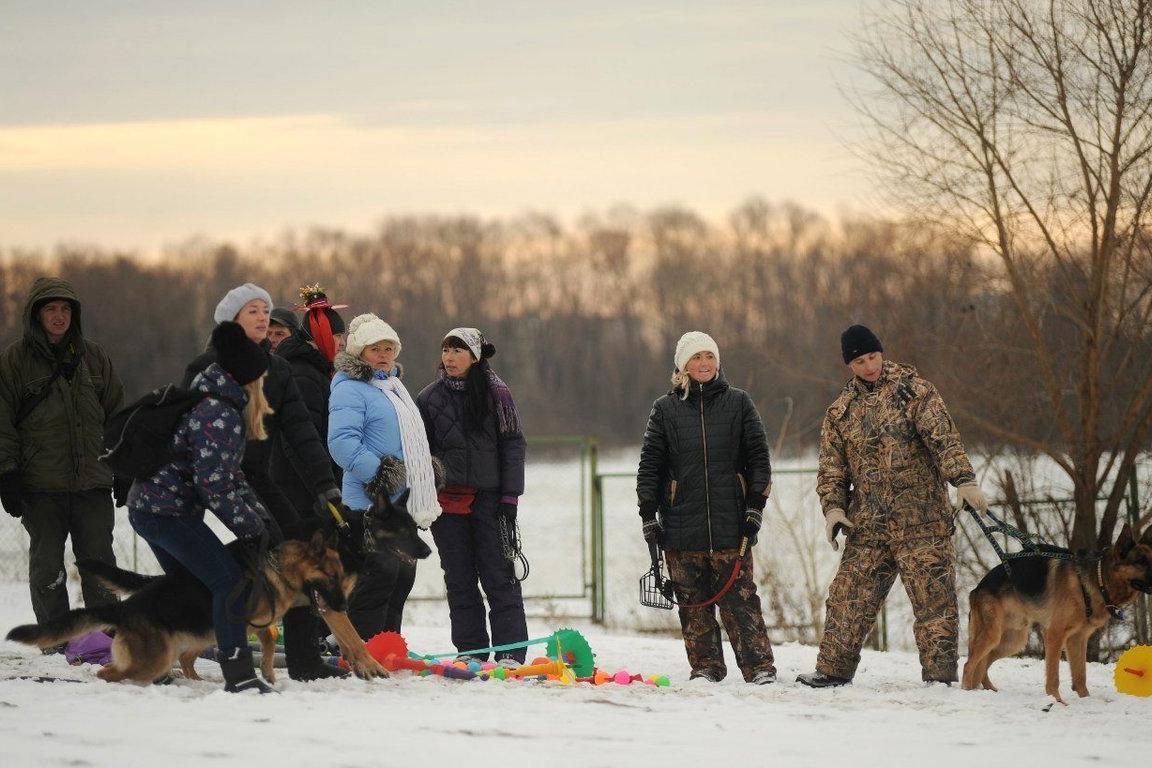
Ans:
[[[207,393],[185,413],[172,439],[175,458],[128,493],[128,519],[166,573],[185,569],[212,591],[217,661],[225,690],[268,693],[256,676],[244,613],[248,590],[240,563],[204,522],[211,510],[255,560],[266,541],[264,510],[244,481],[241,457],[264,440],[264,377],[268,356],[235,322],[212,332],[215,362],[192,379]]]

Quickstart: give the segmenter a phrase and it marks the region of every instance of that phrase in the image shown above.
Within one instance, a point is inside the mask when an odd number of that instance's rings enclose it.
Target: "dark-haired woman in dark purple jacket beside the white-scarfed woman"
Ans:
[[[526,443],[511,393],[488,363],[493,355],[495,347],[478,329],[453,328],[441,343],[437,380],[416,398],[432,455],[445,467],[445,514],[432,524],[432,538],[448,591],[452,641],[462,653],[488,647],[490,623],[492,645],[528,639],[524,598],[505,556],[524,493]],[[524,655],[518,648],[497,660],[513,666]]]

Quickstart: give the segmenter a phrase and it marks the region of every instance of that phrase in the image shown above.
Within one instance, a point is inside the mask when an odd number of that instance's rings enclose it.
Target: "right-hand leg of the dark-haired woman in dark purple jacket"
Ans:
[[[488,599],[488,623],[492,625],[492,645],[495,646],[528,639],[524,596],[513,563],[503,555],[503,540],[500,538],[500,520],[497,516],[499,504],[498,494],[477,493],[471,515],[476,569]],[[510,656],[524,663],[526,654],[526,648],[516,648],[498,655]]]

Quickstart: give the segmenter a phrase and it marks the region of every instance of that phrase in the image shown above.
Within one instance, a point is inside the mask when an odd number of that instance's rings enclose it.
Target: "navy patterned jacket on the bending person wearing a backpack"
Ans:
[[[172,438],[176,458],[132,484],[128,509],[197,518],[212,510],[237,539],[257,537],[267,512],[240,469],[248,395],[217,363],[196,375],[192,389],[211,394],[181,418]]]

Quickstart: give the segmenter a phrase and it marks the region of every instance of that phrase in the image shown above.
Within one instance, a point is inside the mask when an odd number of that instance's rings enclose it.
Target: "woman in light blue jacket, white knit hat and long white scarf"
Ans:
[[[440,504],[424,423],[400,381],[400,336],[374,314],[348,324],[328,398],[328,450],[344,471],[341,495],[354,523],[371,509],[365,486],[376,481],[393,501],[407,488],[408,512],[427,529]],[[400,631],[415,580],[416,563],[394,556],[378,556],[361,570],[348,618],[362,638]]]

